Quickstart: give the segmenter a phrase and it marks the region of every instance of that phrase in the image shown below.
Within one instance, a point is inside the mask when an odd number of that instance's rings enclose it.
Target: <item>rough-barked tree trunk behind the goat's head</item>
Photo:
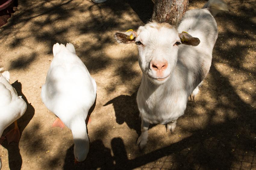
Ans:
[[[155,0],[152,19],[176,25],[188,9],[189,0]]]

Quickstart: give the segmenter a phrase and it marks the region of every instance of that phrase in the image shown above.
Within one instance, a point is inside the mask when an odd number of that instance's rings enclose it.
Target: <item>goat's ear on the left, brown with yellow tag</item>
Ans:
[[[128,30],[126,32],[116,32],[114,34],[115,40],[120,44],[135,43],[137,33],[133,30]]]

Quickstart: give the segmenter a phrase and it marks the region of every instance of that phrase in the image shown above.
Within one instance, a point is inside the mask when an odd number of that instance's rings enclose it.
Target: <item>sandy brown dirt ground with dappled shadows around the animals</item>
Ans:
[[[226,1],[230,11],[215,17],[219,36],[199,95],[188,102],[174,134],[164,125],[150,126],[148,145],[140,151],[138,52],[135,44],[116,43],[113,34],[145,24],[154,3],[19,0],[0,28],[0,67],[10,71],[28,107],[18,120],[20,142],[0,146],[2,170],[256,169],[256,5]],[[191,0],[189,9],[205,2]],[[71,131],[51,127],[56,116],[40,97],[57,42],[75,45],[98,86],[89,154],[76,165]]]

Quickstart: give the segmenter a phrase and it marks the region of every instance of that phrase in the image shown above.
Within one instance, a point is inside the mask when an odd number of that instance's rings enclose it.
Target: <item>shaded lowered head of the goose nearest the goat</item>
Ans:
[[[75,163],[84,161],[89,152],[89,142],[84,139],[74,139],[74,144]]]

